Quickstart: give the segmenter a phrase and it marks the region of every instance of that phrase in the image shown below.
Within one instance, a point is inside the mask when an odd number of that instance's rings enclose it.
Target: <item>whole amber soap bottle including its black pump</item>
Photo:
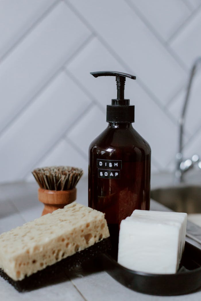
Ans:
[[[133,128],[134,105],[124,99],[126,77],[113,72],[92,72],[94,77],[116,76],[117,99],[107,105],[107,128],[89,147],[89,206],[105,213],[112,244],[118,244],[122,219],[134,209],[149,210],[149,144]]]

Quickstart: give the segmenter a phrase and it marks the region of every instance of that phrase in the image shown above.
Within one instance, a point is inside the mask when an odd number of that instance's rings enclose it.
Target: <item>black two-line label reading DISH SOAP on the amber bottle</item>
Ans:
[[[97,159],[98,177],[104,179],[120,179],[121,160]]]

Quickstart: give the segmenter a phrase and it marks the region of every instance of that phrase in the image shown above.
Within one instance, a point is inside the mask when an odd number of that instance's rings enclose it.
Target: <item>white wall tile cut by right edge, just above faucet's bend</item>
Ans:
[[[171,41],[171,47],[190,68],[201,53],[201,9]]]

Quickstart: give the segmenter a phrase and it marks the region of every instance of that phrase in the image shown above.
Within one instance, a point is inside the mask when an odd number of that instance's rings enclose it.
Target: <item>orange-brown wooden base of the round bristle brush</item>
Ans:
[[[73,188],[71,190],[47,190],[47,189],[38,189],[38,199],[44,204],[44,209],[42,215],[47,213],[52,213],[58,208],[64,208],[65,205],[68,205],[76,200],[77,189]]]

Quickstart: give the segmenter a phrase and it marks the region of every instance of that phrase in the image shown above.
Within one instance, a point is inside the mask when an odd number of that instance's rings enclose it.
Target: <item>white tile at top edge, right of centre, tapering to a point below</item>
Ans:
[[[139,9],[165,41],[190,16],[190,10],[182,0],[130,0],[130,2]]]

